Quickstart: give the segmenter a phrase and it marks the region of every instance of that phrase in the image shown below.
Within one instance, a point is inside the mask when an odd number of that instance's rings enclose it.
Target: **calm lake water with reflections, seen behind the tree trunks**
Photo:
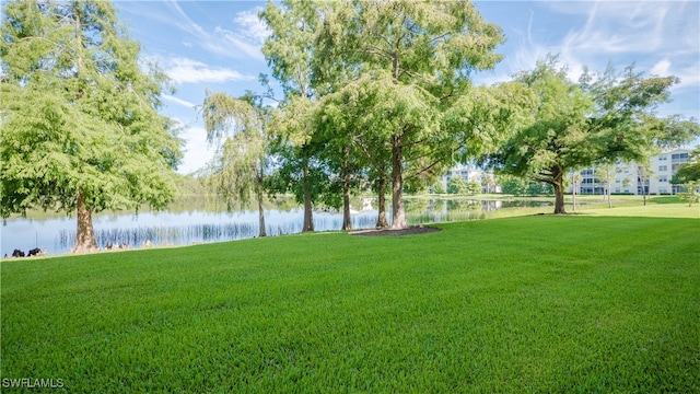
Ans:
[[[479,201],[479,200],[430,200],[405,201],[410,224],[448,221],[479,220],[488,212],[526,206],[550,206],[542,201]],[[387,213],[390,218],[390,212]],[[355,230],[373,228],[377,211],[365,206],[353,212]],[[268,236],[300,233],[303,209],[269,209],[265,212]],[[258,234],[257,211],[228,212],[212,210],[182,210],[178,212],[98,213],[93,216],[97,245],[128,244],[139,247],[145,242],[154,245],[190,245],[197,243],[234,241],[255,237]],[[339,230],[341,212],[314,212],[316,231]],[[2,255],[12,255],[15,248],[46,248],[51,255],[70,251],[75,240],[75,218],[10,218],[2,225]]]

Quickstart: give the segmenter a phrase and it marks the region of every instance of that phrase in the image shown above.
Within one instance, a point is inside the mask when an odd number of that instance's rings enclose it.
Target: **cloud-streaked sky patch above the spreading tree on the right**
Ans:
[[[486,3],[486,1],[485,1]],[[490,4],[490,3],[489,3]],[[645,76],[675,76],[670,101],[660,114],[700,117],[700,2],[686,1],[532,1],[517,8],[489,5],[493,19],[509,33],[505,59],[494,71],[479,72],[475,81],[490,84],[532,70],[548,54],[558,55],[568,77],[578,81],[584,66],[618,72],[634,65]],[[499,12],[497,12],[499,11]],[[529,16],[529,19],[528,19]]]

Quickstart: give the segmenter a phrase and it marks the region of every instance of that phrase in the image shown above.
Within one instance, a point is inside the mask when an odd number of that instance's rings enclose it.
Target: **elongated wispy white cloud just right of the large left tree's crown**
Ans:
[[[229,68],[214,68],[188,58],[172,58],[165,61],[165,72],[175,83],[248,81],[255,77],[245,76]]]

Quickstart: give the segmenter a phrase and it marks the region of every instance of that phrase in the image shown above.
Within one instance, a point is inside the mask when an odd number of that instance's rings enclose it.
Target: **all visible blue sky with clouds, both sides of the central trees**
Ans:
[[[177,92],[166,95],[163,113],[183,125],[186,153],[180,173],[206,164],[208,147],[196,105],[205,91],[234,96],[261,91],[257,77],[269,73],[260,53],[267,31],[257,12],[264,1],[119,1],[119,16],[155,60]],[[482,16],[499,24],[505,58],[477,83],[505,81],[529,70],[547,54],[558,54],[576,80],[584,66],[603,72],[630,63],[648,74],[676,76],[672,102],[661,115],[700,118],[700,1],[476,1]]]

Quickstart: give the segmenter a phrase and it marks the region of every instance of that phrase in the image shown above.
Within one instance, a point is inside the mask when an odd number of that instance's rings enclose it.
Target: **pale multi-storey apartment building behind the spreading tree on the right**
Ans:
[[[575,183],[576,194],[604,194],[607,190],[607,179],[610,179],[612,194],[633,195],[675,195],[680,186],[672,185],[670,179],[681,164],[688,163],[689,149],[676,149],[663,152],[650,159],[649,165],[638,163],[617,163],[610,166],[592,166],[579,172],[580,182]],[[573,183],[569,193],[573,190]]]

